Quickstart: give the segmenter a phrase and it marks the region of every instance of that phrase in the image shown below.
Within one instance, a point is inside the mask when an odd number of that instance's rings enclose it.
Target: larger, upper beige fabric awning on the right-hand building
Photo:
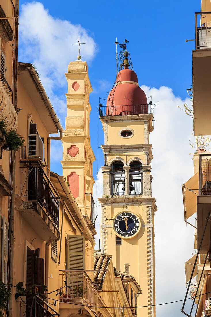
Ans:
[[[192,191],[189,191],[189,190]],[[185,221],[195,214],[197,205],[197,195],[199,193],[199,172],[191,177],[185,184],[182,185],[182,196],[184,205]]]

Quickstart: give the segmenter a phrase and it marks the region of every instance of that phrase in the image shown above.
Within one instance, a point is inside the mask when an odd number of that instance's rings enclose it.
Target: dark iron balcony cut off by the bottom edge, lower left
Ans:
[[[44,301],[39,295],[26,296],[26,305],[20,302],[20,316],[29,317],[54,317],[59,316],[59,313],[51,307],[47,301]],[[22,314],[22,310],[23,312]]]

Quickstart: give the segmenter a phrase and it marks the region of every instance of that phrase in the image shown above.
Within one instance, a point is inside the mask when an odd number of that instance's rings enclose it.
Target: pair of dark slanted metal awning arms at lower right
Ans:
[[[197,286],[196,293],[195,293],[195,296],[194,296],[194,299],[193,299],[192,307],[191,307],[191,309],[190,309],[190,313],[187,314],[187,313],[184,312],[184,307],[185,307],[185,303],[186,303],[186,300],[187,300],[187,297],[188,297],[189,288],[190,288],[190,285],[191,285],[191,280],[192,280],[192,278],[193,278],[193,274],[194,274],[194,269],[195,269],[195,266],[196,266],[196,262],[197,262],[197,259],[198,259],[198,256],[199,256],[199,251],[200,251],[200,249],[201,249],[201,244],[202,244],[202,241],[203,241],[203,238],[204,238],[204,234],[205,234],[205,230],[206,230],[206,228],[207,228],[208,221],[210,221],[210,219],[209,219],[209,217],[210,217],[210,212],[211,212],[211,210],[209,210],[208,216],[207,216],[207,218],[206,218],[206,223],[205,223],[204,230],[203,230],[203,233],[202,233],[202,236],[201,236],[201,241],[200,241],[200,244],[199,244],[199,247],[198,247],[198,252],[197,252],[197,255],[196,255],[196,258],[195,258],[195,262],[194,262],[193,270],[192,270],[192,273],[191,273],[191,276],[190,276],[190,281],[189,281],[189,284],[188,284],[187,292],[186,292],[186,294],[185,294],[185,299],[184,299],[184,302],[183,302],[183,305],[182,305],[182,309],[181,309],[181,312],[182,312],[183,314],[185,314],[186,316],[188,316],[188,317],[191,317],[191,313],[192,313],[192,310],[193,310],[193,307],[194,307],[195,299],[196,299],[196,297],[199,297],[198,304],[197,304],[197,307],[196,307],[196,312],[195,312],[195,316],[196,316],[197,310],[198,310],[199,301],[200,301],[200,297],[201,297],[201,291],[200,291],[200,295],[197,295],[197,293],[198,293],[199,285],[200,285],[200,283],[201,283],[201,278],[202,278],[202,275],[203,275],[203,272],[204,272],[204,267],[205,267],[205,264],[206,264],[207,259],[208,259],[209,250],[208,250],[208,252],[207,252],[207,255],[206,255],[206,258],[205,258],[205,261],[204,261],[204,265],[203,265],[203,268],[202,268],[202,271],[201,271],[200,279],[199,279],[199,281],[198,281],[198,286]],[[211,316],[211,315],[209,315],[209,316]],[[208,316],[207,316],[207,317],[208,317]]]

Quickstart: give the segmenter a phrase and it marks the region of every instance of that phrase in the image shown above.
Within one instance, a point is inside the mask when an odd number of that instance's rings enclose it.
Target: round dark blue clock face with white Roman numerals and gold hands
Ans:
[[[114,219],[114,230],[119,236],[129,238],[139,229],[139,220],[131,212],[123,212]]]

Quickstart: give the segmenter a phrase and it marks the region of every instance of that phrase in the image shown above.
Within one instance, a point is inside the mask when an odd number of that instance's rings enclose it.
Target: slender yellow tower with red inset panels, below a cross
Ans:
[[[95,156],[90,144],[89,94],[92,86],[86,61],[72,61],[65,74],[67,79],[67,117],[63,133],[63,175],[83,215],[94,221],[92,164]]]

